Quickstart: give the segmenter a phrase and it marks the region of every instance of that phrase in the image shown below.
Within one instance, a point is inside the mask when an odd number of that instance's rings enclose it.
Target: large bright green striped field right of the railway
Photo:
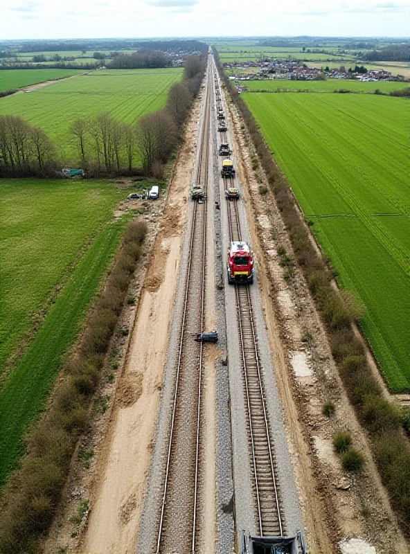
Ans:
[[[410,390],[410,104],[353,94],[245,93],[393,391]]]

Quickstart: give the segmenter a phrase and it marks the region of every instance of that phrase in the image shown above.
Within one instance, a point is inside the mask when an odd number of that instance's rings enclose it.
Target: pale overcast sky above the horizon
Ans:
[[[410,0],[0,0],[0,39],[409,37]]]

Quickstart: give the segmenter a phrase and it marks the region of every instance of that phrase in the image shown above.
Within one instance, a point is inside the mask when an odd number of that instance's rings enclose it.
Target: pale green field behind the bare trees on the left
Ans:
[[[109,111],[124,123],[166,103],[170,86],[181,80],[182,69],[112,69],[48,84],[29,94],[0,99],[0,114],[22,116],[42,127],[68,159],[76,151],[69,127],[79,117]]]

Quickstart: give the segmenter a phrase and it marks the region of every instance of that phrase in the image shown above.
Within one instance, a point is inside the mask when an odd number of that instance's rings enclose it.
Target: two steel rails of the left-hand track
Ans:
[[[207,84],[206,89],[206,97],[205,97],[205,120],[204,125],[202,128],[202,137],[201,137],[201,144],[199,145],[199,164],[198,164],[198,170],[197,170],[197,184],[200,183],[202,180],[202,161],[203,161],[203,152],[204,152],[204,138],[206,134],[209,136],[209,108],[208,108],[208,97],[209,97],[209,83]],[[206,177],[208,172],[208,150],[209,150],[209,139],[206,144],[206,164],[205,164],[205,184],[206,184]],[[204,206],[205,208],[205,206]],[[198,202],[195,202],[194,208],[193,208],[193,222],[191,226],[191,232],[190,232],[190,243],[189,243],[189,253],[188,253],[188,267],[186,271],[186,288],[185,288],[185,295],[184,295],[184,310],[183,310],[183,316],[182,316],[182,322],[181,322],[181,332],[180,332],[180,339],[179,339],[179,351],[178,351],[178,361],[177,361],[177,374],[175,376],[175,393],[174,393],[174,400],[172,404],[172,415],[171,415],[171,429],[170,429],[170,438],[168,442],[168,455],[167,455],[167,463],[166,463],[166,474],[164,479],[164,486],[163,486],[163,496],[162,496],[162,503],[161,503],[161,517],[159,520],[159,532],[158,532],[158,538],[157,538],[157,554],[160,553],[160,546],[161,546],[161,537],[163,533],[163,522],[164,522],[164,513],[165,513],[165,507],[166,507],[166,495],[168,492],[168,479],[170,474],[170,463],[171,463],[171,454],[172,454],[172,438],[174,435],[174,429],[175,429],[175,414],[177,410],[177,399],[178,399],[178,391],[179,391],[179,375],[182,365],[182,358],[183,358],[183,348],[184,348],[184,341],[185,341],[185,327],[186,327],[186,316],[188,312],[188,293],[190,290],[190,274],[191,274],[191,265],[192,265],[192,258],[193,258],[193,242],[195,238],[195,231],[196,231],[196,222],[197,222],[197,212],[198,212]],[[206,230],[206,209],[205,209],[205,217],[204,217],[204,227],[203,232]],[[204,328],[204,276],[205,276],[205,253],[206,253],[206,235],[204,235],[204,249],[203,249],[203,267],[202,267],[202,314],[201,314],[201,332],[203,332]],[[199,416],[200,416],[200,386],[201,386],[201,373],[202,373],[202,350],[203,345],[200,343],[200,350],[199,350],[199,400],[198,400],[198,415],[197,415],[197,439],[196,439],[196,461],[195,461],[195,499],[194,499],[194,517],[193,517],[193,541],[192,541],[192,551],[194,553],[195,548],[195,524],[196,524],[196,506],[197,506],[197,479],[198,479],[198,460],[199,460]]]

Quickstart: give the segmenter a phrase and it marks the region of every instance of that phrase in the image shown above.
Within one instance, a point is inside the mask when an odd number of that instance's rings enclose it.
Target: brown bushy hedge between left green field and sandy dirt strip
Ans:
[[[89,406],[105,364],[109,343],[139,262],[145,222],[131,222],[114,258],[105,287],[89,310],[78,349],[62,369],[51,408],[26,439],[19,470],[6,484],[0,504],[0,552],[35,553],[53,520],[71,458],[90,417]]]

